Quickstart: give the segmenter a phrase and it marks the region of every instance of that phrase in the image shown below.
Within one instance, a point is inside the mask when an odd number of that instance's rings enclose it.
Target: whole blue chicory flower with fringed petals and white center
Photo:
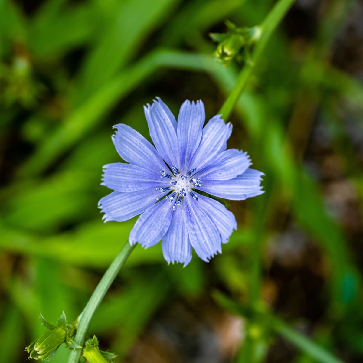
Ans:
[[[127,163],[103,167],[102,185],[114,192],[99,201],[106,221],[126,221],[141,214],[129,236],[145,248],[162,240],[165,260],[186,266],[192,248],[208,262],[228,242],[236,219],[219,201],[197,191],[244,200],[263,193],[262,172],[250,169],[246,152],[228,149],[232,125],[220,115],[205,121],[202,101],[186,100],[178,122],[157,98],[144,106],[154,146],[125,124],[112,136]]]

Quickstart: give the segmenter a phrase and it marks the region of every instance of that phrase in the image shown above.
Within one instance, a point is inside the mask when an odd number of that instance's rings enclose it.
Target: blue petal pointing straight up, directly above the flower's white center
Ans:
[[[197,150],[205,121],[204,105],[201,100],[191,103],[188,99],[180,107],[178,115],[178,140],[183,160],[182,172],[187,170],[194,152]],[[191,166],[189,166],[191,168]]]

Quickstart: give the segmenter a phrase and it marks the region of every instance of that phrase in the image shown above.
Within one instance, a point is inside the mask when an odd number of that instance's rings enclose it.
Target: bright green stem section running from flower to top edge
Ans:
[[[236,106],[238,99],[246,87],[252,70],[255,68],[263,50],[265,49],[267,41],[269,40],[272,32],[276,29],[278,24],[280,24],[281,20],[284,18],[287,11],[289,11],[294,1],[295,0],[277,1],[275,6],[271,9],[265,20],[260,25],[261,35],[253,50],[251,62],[244,65],[240,74],[238,74],[236,85],[233,87],[231,93],[228,95],[228,98],[225,100],[223,106],[219,110],[219,114],[222,115],[224,121],[228,120],[234,106]]]

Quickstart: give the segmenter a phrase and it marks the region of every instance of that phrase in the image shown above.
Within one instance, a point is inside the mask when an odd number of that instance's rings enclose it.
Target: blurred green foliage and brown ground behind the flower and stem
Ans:
[[[0,1],[1,362],[26,361],[40,313],[76,319],[127,241],[135,219],[104,224],[97,208],[101,168],[120,161],[112,126],[150,139],[155,96],[215,115],[242,65],[224,68],[208,33],[273,3]],[[137,246],[90,327],[116,362],[312,363],[318,346],[363,361],[362,18],[362,1],[290,9],[231,117],[228,146],[265,172],[265,194],[228,203],[238,230],[209,264]]]

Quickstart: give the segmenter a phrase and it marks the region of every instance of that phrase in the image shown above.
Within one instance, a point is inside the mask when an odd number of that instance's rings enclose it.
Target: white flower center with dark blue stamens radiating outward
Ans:
[[[193,174],[196,170],[197,168],[193,168],[189,170],[187,175],[183,175],[176,166],[173,166],[172,171],[174,175],[169,175],[164,172],[163,169],[160,169],[160,178],[171,179],[170,187],[156,188],[156,190],[159,190],[162,193],[170,193],[166,198],[169,200],[169,203],[176,200],[173,209],[175,209],[177,205],[180,205],[181,200],[183,200],[183,197],[187,196],[187,193],[190,194],[195,201],[198,200],[198,197],[192,192],[193,188],[199,188],[202,185],[200,178],[193,178]]]

